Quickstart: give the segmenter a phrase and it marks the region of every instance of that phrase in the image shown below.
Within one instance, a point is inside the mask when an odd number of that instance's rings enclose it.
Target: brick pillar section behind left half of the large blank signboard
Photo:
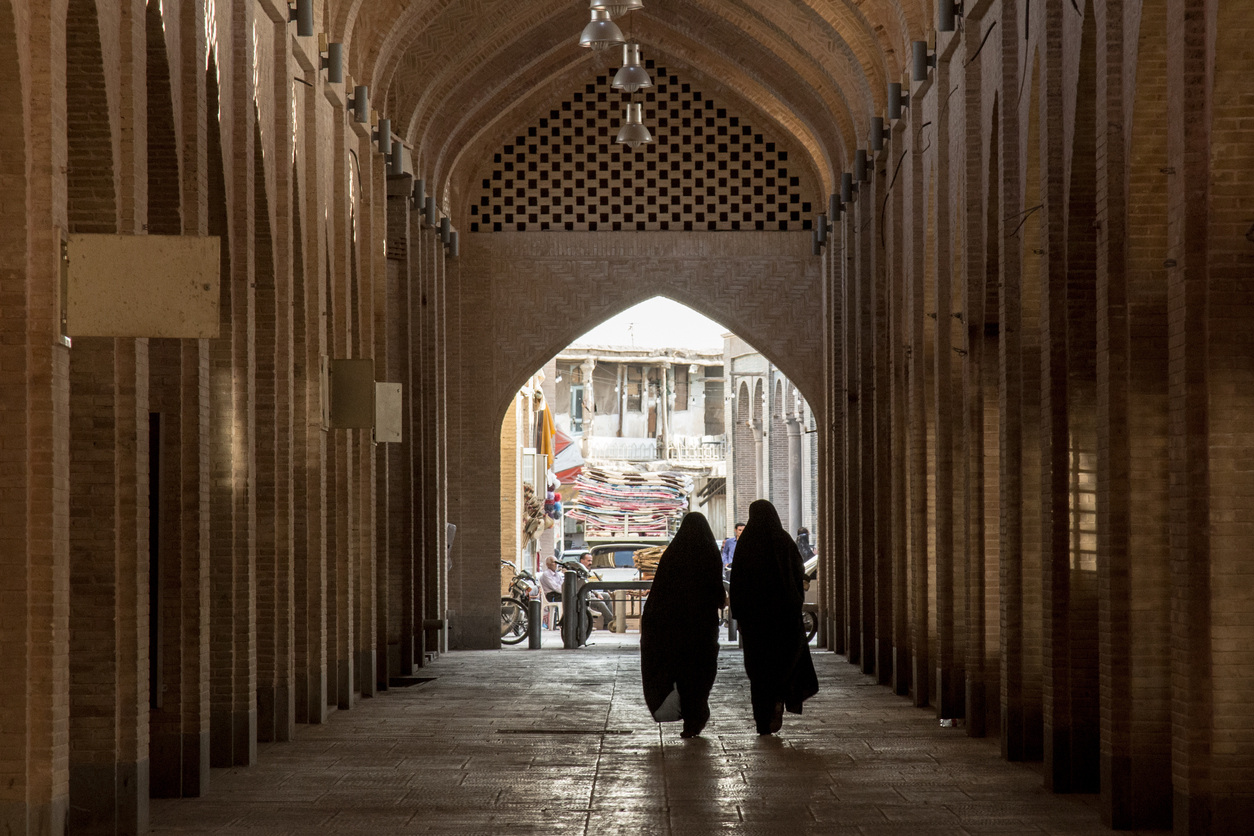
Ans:
[[[134,233],[145,221],[147,59],[134,11],[68,14],[73,232]],[[112,108],[107,66],[119,76]],[[147,366],[147,341],[133,338],[80,340],[70,355],[69,825],[83,832],[148,826]]]

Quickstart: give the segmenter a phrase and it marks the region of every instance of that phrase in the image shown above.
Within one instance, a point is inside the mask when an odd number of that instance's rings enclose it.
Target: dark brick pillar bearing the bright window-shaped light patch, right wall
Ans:
[[[1061,10],[1061,6],[1060,6]],[[1045,786],[1097,790],[1095,236],[1095,36],[1086,19],[1076,89],[1065,89],[1062,19],[1047,15],[1041,212],[1041,559]],[[1063,99],[1075,103],[1071,153]],[[1058,173],[1071,159],[1070,184]],[[1067,188],[1070,185],[1070,188]],[[1028,202],[1032,206],[1032,202]],[[1031,223],[1031,222],[1030,222]],[[1030,489],[1025,501],[1032,501]]]

